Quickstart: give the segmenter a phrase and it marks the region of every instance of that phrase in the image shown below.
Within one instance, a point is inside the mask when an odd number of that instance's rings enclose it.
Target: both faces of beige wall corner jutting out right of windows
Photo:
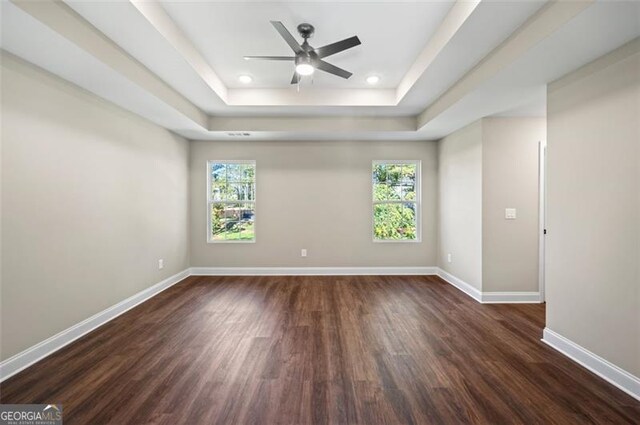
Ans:
[[[439,142],[438,266],[482,292],[538,291],[545,133],[544,118],[483,118]]]

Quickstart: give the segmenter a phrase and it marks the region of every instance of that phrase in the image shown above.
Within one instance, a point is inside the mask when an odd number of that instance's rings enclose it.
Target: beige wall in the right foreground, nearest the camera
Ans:
[[[640,39],[548,89],[547,327],[640,376]]]

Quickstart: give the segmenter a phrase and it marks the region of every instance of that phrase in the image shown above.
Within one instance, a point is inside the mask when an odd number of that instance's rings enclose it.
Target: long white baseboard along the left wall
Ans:
[[[21,353],[6,359],[0,363],[0,382],[15,375],[21,370],[26,369],[32,364],[58,351],[65,345],[72,343],[76,339],[88,334],[110,320],[115,319],[127,310],[132,309],[138,304],[148,300],[187,277],[189,277],[189,269],[176,273],[162,282],[140,291],[126,300],[121,301],[118,304],[115,304],[54,336],[27,348]]]

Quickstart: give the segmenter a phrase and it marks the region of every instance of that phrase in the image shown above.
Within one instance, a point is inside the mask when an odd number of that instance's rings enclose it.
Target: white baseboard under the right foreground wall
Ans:
[[[640,400],[640,378],[630,374],[626,370],[620,369],[613,363],[610,363],[549,328],[544,329],[542,342],[595,373],[610,384],[620,388],[631,397]]]

